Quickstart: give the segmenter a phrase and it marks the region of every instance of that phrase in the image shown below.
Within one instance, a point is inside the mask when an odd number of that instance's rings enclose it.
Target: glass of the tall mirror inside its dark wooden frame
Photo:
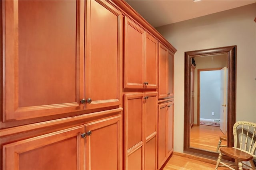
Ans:
[[[219,137],[226,137],[227,60],[227,54],[191,60],[190,147],[217,152]]]

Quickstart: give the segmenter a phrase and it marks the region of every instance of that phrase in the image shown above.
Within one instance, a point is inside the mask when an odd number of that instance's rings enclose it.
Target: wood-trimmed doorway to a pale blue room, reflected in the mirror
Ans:
[[[222,68],[198,69],[197,125],[220,127]]]

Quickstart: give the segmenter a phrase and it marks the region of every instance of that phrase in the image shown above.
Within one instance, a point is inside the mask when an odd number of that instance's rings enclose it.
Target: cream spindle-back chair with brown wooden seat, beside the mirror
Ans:
[[[256,123],[238,121],[233,126],[234,147],[220,148],[215,170],[219,166],[226,166],[232,170],[243,170],[243,165],[255,170],[255,150],[256,150]],[[222,155],[225,154],[236,161],[236,164],[228,165],[221,162]],[[248,162],[250,163],[248,163]],[[247,162],[247,164],[245,164]],[[222,165],[219,165],[222,164]],[[231,166],[235,166],[232,168]]]

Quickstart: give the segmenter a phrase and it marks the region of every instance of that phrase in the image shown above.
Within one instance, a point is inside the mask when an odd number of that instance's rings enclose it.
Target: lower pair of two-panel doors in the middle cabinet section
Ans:
[[[156,169],[157,93],[124,94],[124,167]]]

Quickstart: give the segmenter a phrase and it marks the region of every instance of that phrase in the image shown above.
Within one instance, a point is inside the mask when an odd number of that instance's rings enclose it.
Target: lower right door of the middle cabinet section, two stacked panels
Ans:
[[[157,92],[145,93],[145,170],[157,169]]]

